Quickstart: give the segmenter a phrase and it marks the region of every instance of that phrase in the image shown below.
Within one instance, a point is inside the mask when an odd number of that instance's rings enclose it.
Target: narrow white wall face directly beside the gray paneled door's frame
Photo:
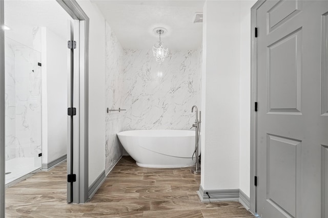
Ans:
[[[250,197],[251,135],[251,7],[256,0],[240,2],[240,150],[239,188]]]

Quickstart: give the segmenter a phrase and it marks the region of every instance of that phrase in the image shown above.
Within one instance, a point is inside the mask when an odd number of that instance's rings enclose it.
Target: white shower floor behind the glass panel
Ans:
[[[6,161],[6,187],[11,186],[10,183],[12,184],[12,182],[40,169],[40,165],[35,163],[35,158],[14,158]]]

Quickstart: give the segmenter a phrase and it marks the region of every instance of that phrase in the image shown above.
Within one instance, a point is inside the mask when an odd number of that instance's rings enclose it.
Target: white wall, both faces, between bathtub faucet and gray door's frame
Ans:
[[[250,31],[255,2],[204,5],[201,185],[206,190],[239,188],[250,196]]]

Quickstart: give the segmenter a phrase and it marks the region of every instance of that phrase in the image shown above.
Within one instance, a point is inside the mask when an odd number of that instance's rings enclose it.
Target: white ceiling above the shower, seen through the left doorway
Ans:
[[[5,25],[8,35],[23,34],[26,27],[47,27],[66,38],[67,20],[71,17],[56,1],[5,1]]]

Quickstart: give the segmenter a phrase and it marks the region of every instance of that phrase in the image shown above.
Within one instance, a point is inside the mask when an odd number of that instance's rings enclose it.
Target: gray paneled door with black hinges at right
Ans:
[[[257,9],[257,213],[328,217],[328,1]]]

